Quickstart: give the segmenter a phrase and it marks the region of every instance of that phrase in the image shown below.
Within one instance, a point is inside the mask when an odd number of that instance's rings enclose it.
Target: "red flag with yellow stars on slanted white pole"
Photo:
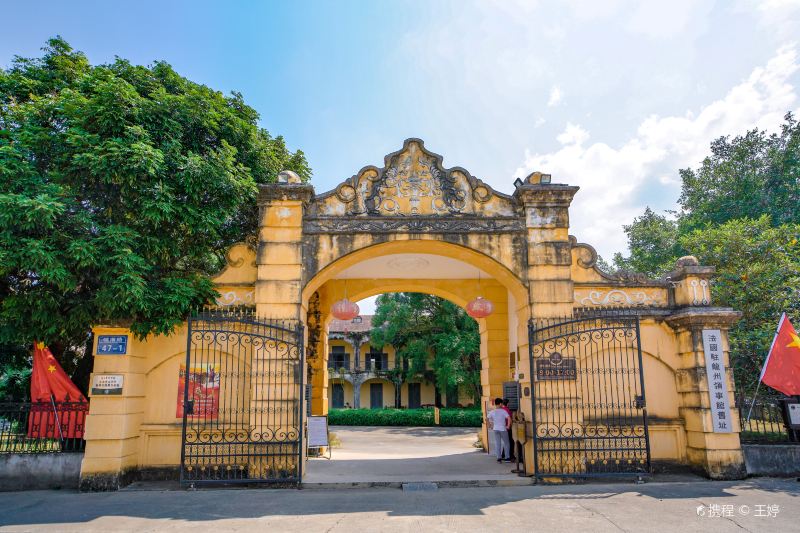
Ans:
[[[761,381],[787,396],[800,394],[800,337],[784,313],[772,340]]]

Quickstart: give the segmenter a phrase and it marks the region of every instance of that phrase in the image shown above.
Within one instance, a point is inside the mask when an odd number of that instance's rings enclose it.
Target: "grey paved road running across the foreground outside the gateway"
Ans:
[[[698,506],[731,506],[702,517]],[[748,506],[742,514],[741,506]],[[757,517],[758,505],[777,505]],[[720,510],[723,508],[720,507]],[[704,511],[705,512],[705,511]],[[0,531],[800,531],[800,483],[0,493]]]

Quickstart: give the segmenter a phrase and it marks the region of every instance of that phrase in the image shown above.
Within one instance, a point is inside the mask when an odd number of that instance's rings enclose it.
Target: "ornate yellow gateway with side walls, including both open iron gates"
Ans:
[[[166,336],[94,328],[82,486],[154,471],[300,483],[307,416],[334,401],[332,308],[387,292],[493,304],[478,319],[481,407],[517,383],[527,474],[743,476],[727,333],[740,314],[714,306],[713,269],[685,257],[662,279],[603,272],[569,232],[578,187],[511,181],[496,191],[407,139],[328,192],[291,172],[261,185],[258,233],[213,277],[215,306]]]

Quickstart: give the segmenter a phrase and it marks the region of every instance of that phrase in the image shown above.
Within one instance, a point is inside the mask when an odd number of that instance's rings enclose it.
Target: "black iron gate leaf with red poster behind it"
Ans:
[[[203,311],[188,327],[181,483],[299,483],[302,324],[248,308]]]

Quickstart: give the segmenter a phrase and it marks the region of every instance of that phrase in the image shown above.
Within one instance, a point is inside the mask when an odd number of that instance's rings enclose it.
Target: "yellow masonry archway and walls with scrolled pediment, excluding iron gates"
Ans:
[[[737,313],[712,307],[712,269],[687,257],[663,280],[600,271],[591,246],[569,235],[569,206],[577,191],[533,173],[506,195],[461,167],[445,168],[419,139],[406,140],[382,167],[364,167],[319,195],[285,172],[278,183],[260,186],[258,235],[243,236],[245,242],[230,250],[228,267],[214,278],[217,305],[252,309],[258,320],[297,323],[304,338],[296,345],[304,346],[307,361],[302,382],[312,385],[312,409],[325,412],[326,320],[330,303],[344,293],[345,280],[352,297],[418,290],[463,305],[478,296],[475,282],[481,279],[481,291],[500,304],[481,322],[482,382],[487,395],[499,395],[504,381],[519,382],[527,423],[525,468],[531,475],[533,440],[544,431],[532,408],[537,391],[563,391],[548,398],[553,405],[576,402],[574,394],[569,397],[574,387],[547,386],[547,378],[537,373],[538,363],[530,368],[529,323],[574,317],[579,308],[624,307],[640,326],[644,356],[636,372],[647,370],[647,397],[641,404],[650,411],[648,459],[692,465],[712,477],[741,475],[738,413],[730,407],[733,383],[727,371],[727,328]],[[409,260],[427,262],[427,270],[391,270],[392,262]],[[95,333],[130,337],[124,327],[98,326]],[[723,361],[717,363],[721,370],[714,383],[725,383],[725,401],[717,397],[712,402],[709,393],[715,385],[706,375],[702,342],[709,335],[719,338],[717,353]],[[185,330],[142,342],[129,338],[121,356],[96,355],[95,373],[117,374],[126,385],[120,397],[92,399],[85,487],[119,486],[145,470],[173,475],[187,466],[180,459],[183,420],[171,410],[152,408],[178,398],[179,376],[163,369],[178,367],[179,356],[168,354],[176,354],[180,342],[186,343]],[[649,369],[658,379],[648,378]],[[595,365],[593,372],[602,371]],[[579,409],[591,404],[593,391],[581,394]],[[298,389],[293,397],[282,398],[284,406],[296,410],[300,433],[303,397]],[[727,417],[727,425],[720,417]],[[575,420],[584,418],[585,413]],[[598,421],[591,423],[599,427]],[[617,420],[613,427],[619,425]],[[584,438],[587,427],[559,442]],[[575,458],[570,461],[574,468]],[[578,461],[584,464],[586,457]],[[551,462],[551,469],[558,464]]]

